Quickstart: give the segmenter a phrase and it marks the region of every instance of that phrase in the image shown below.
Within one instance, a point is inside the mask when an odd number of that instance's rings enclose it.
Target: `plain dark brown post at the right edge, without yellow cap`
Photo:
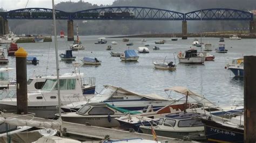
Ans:
[[[244,56],[244,142],[256,142],[256,56]]]

